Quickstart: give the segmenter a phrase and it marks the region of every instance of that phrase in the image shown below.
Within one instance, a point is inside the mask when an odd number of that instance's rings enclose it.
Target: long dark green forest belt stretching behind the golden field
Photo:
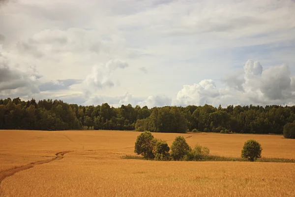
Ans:
[[[216,108],[206,104],[148,109],[130,104],[115,108],[107,103],[78,106],[52,99],[0,99],[0,129],[283,133],[284,125],[294,121],[295,106]]]

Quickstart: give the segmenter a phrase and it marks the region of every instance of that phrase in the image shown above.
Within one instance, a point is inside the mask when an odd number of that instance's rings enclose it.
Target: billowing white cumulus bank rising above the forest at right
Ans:
[[[247,61],[243,78],[240,73],[230,75],[223,81],[225,88],[216,88],[213,80],[199,84],[184,85],[177,94],[177,105],[219,104],[293,104],[295,99],[294,76],[287,65],[270,66],[263,70],[259,62]]]

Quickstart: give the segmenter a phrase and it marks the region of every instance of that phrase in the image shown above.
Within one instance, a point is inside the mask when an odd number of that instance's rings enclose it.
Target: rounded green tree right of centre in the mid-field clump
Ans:
[[[175,161],[183,160],[184,156],[190,152],[191,148],[186,143],[184,137],[177,136],[171,146],[171,157]]]

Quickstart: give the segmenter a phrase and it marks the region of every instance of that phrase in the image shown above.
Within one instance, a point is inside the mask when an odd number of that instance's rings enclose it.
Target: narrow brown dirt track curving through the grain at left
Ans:
[[[2,182],[3,179],[5,179],[8,176],[12,176],[16,172],[19,172],[19,171],[22,171],[22,170],[25,170],[25,169],[32,168],[35,165],[46,164],[46,163],[53,162],[53,161],[56,161],[56,160],[61,160],[63,158],[63,155],[64,154],[70,153],[70,152],[73,152],[73,151],[59,152],[59,153],[56,153],[55,154],[56,157],[53,158],[53,159],[43,160],[43,161],[38,161],[38,162],[33,162],[33,163],[30,163],[30,164],[27,164],[27,165],[23,165],[23,166],[15,167],[15,168],[12,168],[12,169],[7,169],[7,170],[4,170],[4,171],[0,171],[0,186],[1,186],[1,182]],[[1,197],[1,193],[0,193],[0,197]]]

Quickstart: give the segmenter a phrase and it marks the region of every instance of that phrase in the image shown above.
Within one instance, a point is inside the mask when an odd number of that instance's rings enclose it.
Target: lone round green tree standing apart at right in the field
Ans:
[[[257,158],[261,158],[262,148],[259,142],[254,139],[247,140],[244,143],[242,149],[242,158],[246,158],[251,162],[254,162]]]

